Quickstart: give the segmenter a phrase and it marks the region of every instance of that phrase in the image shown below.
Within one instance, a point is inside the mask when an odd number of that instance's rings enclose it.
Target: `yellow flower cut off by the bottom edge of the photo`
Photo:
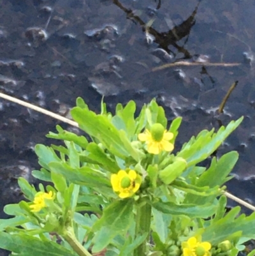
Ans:
[[[211,248],[210,243],[200,243],[194,236],[182,243],[183,256],[210,256]]]

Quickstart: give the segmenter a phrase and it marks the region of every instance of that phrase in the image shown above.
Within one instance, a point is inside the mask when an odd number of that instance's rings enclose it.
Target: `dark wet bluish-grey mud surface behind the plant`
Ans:
[[[139,109],[156,97],[169,121],[183,117],[177,149],[219,120],[244,116],[217,156],[240,153],[229,191],[254,204],[254,14],[253,0],[1,0],[0,90],[62,116],[78,96],[93,110],[102,95],[110,110],[131,99]],[[201,65],[152,71],[175,61]],[[17,177],[33,181],[34,145],[50,144],[45,135],[56,124],[78,132],[0,99],[1,218],[3,205],[21,198]]]

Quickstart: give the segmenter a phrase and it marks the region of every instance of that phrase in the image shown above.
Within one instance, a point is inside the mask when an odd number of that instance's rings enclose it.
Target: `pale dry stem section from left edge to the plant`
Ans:
[[[75,121],[71,121],[70,119],[68,119],[66,117],[60,116],[60,115],[55,114],[53,112],[50,112],[46,109],[42,109],[41,107],[37,107],[37,106],[35,106],[31,103],[24,102],[23,100],[18,100],[17,98],[11,97],[11,96],[6,95],[4,93],[0,93],[0,97],[4,98],[5,100],[10,100],[10,102],[15,102],[15,103],[17,103],[19,105],[22,105],[24,107],[27,107],[29,109],[33,109],[33,110],[35,110],[37,112],[40,112],[42,114],[45,114],[47,116],[53,117],[53,118],[55,118],[59,121],[62,121],[64,123],[68,123],[68,124],[71,124],[72,126],[78,127],[78,124]]]

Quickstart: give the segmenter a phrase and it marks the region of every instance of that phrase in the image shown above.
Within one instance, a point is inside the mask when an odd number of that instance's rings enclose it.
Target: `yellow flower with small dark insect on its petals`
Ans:
[[[119,193],[119,197],[124,199],[131,197],[142,183],[142,177],[135,170],[119,170],[117,174],[112,174],[111,183],[114,192]]]

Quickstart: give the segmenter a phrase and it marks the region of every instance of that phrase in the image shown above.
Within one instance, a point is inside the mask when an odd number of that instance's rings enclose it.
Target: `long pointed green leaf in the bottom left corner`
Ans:
[[[37,237],[26,234],[8,234],[0,232],[0,248],[17,253],[19,256],[76,256],[77,254],[69,251],[52,241],[42,241]]]

